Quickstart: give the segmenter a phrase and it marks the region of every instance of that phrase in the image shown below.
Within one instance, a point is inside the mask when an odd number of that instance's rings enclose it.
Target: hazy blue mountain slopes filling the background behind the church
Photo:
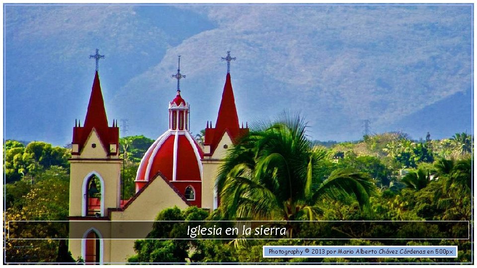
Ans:
[[[99,48],[108,120],[167,129],[177,55],[191,131],[217,119],[227,50],[239,121],[301,110],[310,136],[472,132],[473,6],[4,5],[4,138],[70,143]]]

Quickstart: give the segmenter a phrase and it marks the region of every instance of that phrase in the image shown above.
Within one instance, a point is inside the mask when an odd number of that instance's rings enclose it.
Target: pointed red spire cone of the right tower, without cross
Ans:
[[[225,80],[224,92],[222,93],[222,101],[220,102],[219,116],[217,117],[215,128],[219,132],[225,129],[234,132],[239,129],[239,117],[237,116],[237,108],[235,107],[230,73],[227,73],[227,79]]]

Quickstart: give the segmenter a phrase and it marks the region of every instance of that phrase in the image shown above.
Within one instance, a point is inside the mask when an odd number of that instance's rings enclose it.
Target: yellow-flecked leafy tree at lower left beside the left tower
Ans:
[[[5,244],[6,262],[55,262],[58,257],[58,238],[68,237],[69,174],[66,169],[52,167],[34,177],[35,184],[16,182],[7,187],[6,196],[13,196],[5,211],[6,226],[11,238],[42,238],[39,240],[7,239]],[[17,189],[15,193],[14,187]],[[26,190],[29,191],[26,194]],[[10,192],[11,191],[11,192]],[[19,195],[23,194],[21,198]],[[49,221],[22,225],[13,221]],[[51,240],[45,238],[52,238]]]

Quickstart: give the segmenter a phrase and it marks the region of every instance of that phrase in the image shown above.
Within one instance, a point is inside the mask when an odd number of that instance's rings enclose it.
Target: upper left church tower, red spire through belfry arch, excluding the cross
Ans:
[[[120,204],[119,128],[115,121],[108,126],[97,70],[84,125],[73,128],[71,154],[70,216],[107,216],[106,208]]]

